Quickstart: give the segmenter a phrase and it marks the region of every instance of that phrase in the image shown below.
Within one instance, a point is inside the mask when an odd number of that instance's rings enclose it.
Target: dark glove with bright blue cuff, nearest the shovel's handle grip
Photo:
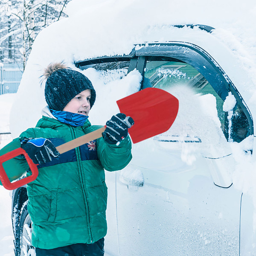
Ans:
[[[52,157],[58,157],[60,154],[55,146],[44,138],[24,139],[21,141],[20,146],[35,164],[50,162]]]

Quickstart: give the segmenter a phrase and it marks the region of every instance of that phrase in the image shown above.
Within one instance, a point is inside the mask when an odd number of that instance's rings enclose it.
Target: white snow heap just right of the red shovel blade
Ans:
[[[179,100],[179,112],[166,136],[175,135],[182,147],[182,160],[191,165],[196,154],[204,157],[223,157],[231,150],[221,130],[218,119],[216,99],[212,94],[195,94],[186,85],[179,85],[168,90]],[[197,138],[199,143],[183,143]]]

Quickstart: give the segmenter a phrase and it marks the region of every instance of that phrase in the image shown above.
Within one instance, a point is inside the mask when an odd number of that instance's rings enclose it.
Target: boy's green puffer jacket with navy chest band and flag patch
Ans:
[[[73,140],[101,126],[73,127],[43,116],[35,128],[24,131],[0,151],[20,147],[20,140],[47,138],[55,146]],[[105,172],[123,169],[131,160],[131,140],[118,146],[102,138],[61,154],[39,165],[37,179],[27,185],[28,211],[32,220],[32,245],[52,249],[76,243],[94,243],[107,233],[107,186]],[[10,180],[20,177],[28,165],[21,157],[3,164]],[[29,175],[29,172],[27,173]]]

